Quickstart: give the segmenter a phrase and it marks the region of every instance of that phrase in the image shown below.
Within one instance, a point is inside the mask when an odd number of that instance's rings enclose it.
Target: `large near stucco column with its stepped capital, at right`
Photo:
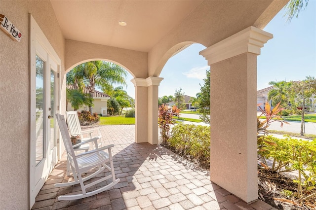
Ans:
[[[248,27],[200,52],[211,66],[211,181],[247,203],[258,198],[257,55],[272,37]]]

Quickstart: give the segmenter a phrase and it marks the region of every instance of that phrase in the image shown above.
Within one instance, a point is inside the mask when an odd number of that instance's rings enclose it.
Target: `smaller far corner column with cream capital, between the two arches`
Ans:
[[[163,78],[133,78],[135,86],[135,142],[158,144],[158,86]]]

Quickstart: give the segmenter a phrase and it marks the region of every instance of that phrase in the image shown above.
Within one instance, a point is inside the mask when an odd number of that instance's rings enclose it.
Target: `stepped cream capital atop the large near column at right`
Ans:
[[[250,26],[235,35],[209,46],[199,52],[207,61],[208,65],[250,52],[260,55],[260,49],[273,35]]]

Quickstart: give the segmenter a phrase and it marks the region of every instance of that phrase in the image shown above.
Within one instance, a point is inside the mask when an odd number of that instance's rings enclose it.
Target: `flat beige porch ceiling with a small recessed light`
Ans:
[[[66,39],[149,51],[179,24],[200,0],[52,0]],[[125,27],[119,21],[127,23]]]

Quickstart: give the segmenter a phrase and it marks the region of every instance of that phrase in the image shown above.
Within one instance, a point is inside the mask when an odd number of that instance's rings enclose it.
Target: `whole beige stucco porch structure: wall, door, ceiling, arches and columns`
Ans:
[[[257,113],[249,105],[257,56],[273,38],[263,29],[286,3],[0,0],[1,29],[12,29],[0,30],[0,209],[32,209],[65,151],[54,114],[66,111],[68,71],[102,60],[130,72],[137,149],[158,144],[159,75],[193,43],[205,46],[199,55],[212,69],[210,180],[246,203],[257,200]]]

